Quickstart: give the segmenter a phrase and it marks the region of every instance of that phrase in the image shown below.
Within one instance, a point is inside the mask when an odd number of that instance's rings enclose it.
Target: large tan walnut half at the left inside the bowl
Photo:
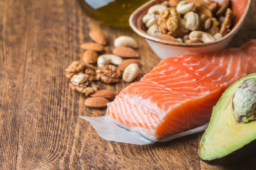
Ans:
[[[157,25],[163,34],[174,32],[179,27],[180,16],[176,8],[167,8],[160,13]]]

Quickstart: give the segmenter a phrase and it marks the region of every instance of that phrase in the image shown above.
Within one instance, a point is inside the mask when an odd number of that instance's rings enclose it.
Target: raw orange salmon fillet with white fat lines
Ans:
[[[256,40],[241,48],[162,60],[108,108],[115,124],[156,140],[198,125],[237,79],[255,72]]]

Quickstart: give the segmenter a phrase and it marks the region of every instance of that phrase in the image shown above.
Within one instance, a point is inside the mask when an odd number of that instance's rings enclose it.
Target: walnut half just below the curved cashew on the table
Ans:
[[[96,74],[96,79],[101,80],[104,83],[118,83],[120,81],[119,78],[122,75],[118,67],[113,65],[99,67],[96,70]]]

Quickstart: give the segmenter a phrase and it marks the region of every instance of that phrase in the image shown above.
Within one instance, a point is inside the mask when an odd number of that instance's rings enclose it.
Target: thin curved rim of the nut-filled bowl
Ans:
[[[144,10],[145,7],[147,7],[149,4],[154,4],[155,1],[159,1],[159,0],[150,0],[147,3],[141,5],[139,8],[137,8],[129,17],[129,25],[131,27],[131,29],[136,32],[136,34],[138,34],[139,36],[148,39],[150,41],[154,41],[156,43],[161,43],[164,45],[172,45],[172,46],[182,46],[182,47],[200,47],[200,46],[208,46],[208,45],[215,45],[217,43],[221,43],[222,41],[225,41],[226,39],[231,38],[232,36],[234,36],[234,34],[236,34],[236,32],[241,28],[241,26],[243,25],[244,22],[244,18],[246,17],[249,8],[250,8],[250,4],[251,4],[251,0],[247,0],[247,4],[246,4],[246,8],[244,10],[244,13],[241,17],[241,19],[239,20],[238,24],[236,25],[236,27],[234,27],[230,32],[228,32],[227,35],[225,35],[223,38],[220,38],[216,41],[213,42],[209,42],[209,43],[176,43],[176,42],[172,42],[172,41],[167,41],[164,39],[159,39],[157,37],[153,37],[150,36],[149,34],[147,34],[146,32],[141,31],[140,29],[138,29],[136,27],[136,24],[134,24],[133,21],[137,22],[138,18],[136,18],[136,20],[134,20],[134,17],[140,13],[140,11]],[[163,0],[162,0],[163,1]]]

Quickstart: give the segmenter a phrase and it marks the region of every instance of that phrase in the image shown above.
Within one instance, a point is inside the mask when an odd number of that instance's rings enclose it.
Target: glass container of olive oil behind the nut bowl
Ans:
[[[78,0],[83,11],[100,22],[128,27],[131,13],[148,0]]]

